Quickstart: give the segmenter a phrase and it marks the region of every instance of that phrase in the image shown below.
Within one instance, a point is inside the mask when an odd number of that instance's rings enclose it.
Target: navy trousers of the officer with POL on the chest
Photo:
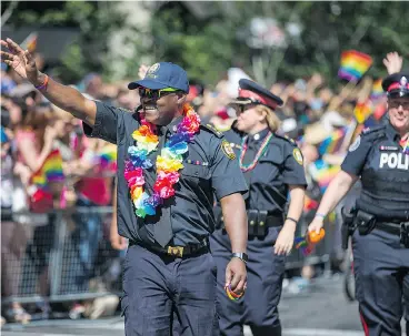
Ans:
[[[356,297],[367,336],[400,336],[406,310],[409,330],[409,248],[399,236],[380,230],[353,234]],[[402,298],[405,303],[402,303]]]

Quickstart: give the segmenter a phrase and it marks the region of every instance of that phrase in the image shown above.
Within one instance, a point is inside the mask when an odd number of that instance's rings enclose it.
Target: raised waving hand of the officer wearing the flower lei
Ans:
[[[39,71],[33,55],[28,50],[22,50],[22,48],[11,39],[6,39],[6,41],[0,40],[0,43],[8,49],[8,52],[1,51],[2,62],[14,69],[23,79],[38,85]]]

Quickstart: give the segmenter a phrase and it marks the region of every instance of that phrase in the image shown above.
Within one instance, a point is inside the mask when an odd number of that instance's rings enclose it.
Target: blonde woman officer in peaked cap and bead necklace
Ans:
[[[232,102],[238,119],[226,133],[249,185],[245,196],[249,221],[248,287],[241,301],[232,302],[222,291],[218,273],[221,335],[242,335],[249,325],[255,336],[281,335],[278,314],[285,258],[295,238],[307,186],[303,160],[296,143],[276,133],[279,119],[275,109],[282,104],[259,84],[239,81],[239,96]],[[290,195],[287,216],[285,208]],[[218,269],[229,261],[229,237],[223,228],[213,233],[211,251]]]

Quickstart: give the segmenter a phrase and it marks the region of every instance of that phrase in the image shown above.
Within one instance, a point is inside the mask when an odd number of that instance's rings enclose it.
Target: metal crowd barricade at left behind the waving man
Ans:
[[[112,207],[76,207],[29,215],[33,224],[4,222],[20,232],[21,245],[2,248],[2,304],[82,301],[120,294],[121,258],[109,242]],[[4,226],[6,227],[6,226]],[[17,227],[17,228],[16,228]],[[12,236],[12,235],[10,235]],[[18,250],[18,251],[17,251]]]

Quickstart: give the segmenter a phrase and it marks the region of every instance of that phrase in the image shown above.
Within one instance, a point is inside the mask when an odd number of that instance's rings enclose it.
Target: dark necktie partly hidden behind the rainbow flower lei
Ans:
[[[159,130],[159,145],[158,145],[158,155],[160,155],[160,151],[164,146],[168,134],[170,134],[168,128],[161,126]],[[167,200],[163,200],[163,205],[161,206],[161,216],[159,217],[159,222],[154,224],[154,240],[164,247],[168,245],[170,240],[173,237],[172,224],[170,223],[170,207],[167,206]]]

